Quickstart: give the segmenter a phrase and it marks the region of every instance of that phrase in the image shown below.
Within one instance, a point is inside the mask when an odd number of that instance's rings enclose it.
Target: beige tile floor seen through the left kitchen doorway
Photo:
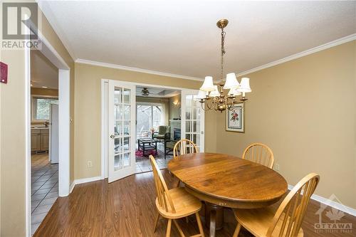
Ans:
[[[31,232],[47,215],[58,198],[58,164],[48,161],[48,154],[31,156]]]

